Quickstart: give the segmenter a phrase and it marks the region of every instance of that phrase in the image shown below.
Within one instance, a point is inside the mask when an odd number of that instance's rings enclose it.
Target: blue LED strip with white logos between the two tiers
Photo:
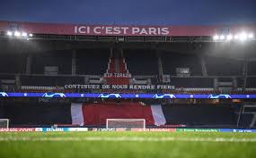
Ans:
[[[143,98],[143,99],[254,99],[256,95],[174,95],[174,94],[119,94],[119,93],[8,93],[0,97],[63,97],[63,98]]]

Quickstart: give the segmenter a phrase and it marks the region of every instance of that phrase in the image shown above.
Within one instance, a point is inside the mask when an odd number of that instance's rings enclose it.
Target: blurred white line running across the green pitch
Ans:
[[[116,142],[256,142],[256,137],[0,137],[0,141],[116,141]]]

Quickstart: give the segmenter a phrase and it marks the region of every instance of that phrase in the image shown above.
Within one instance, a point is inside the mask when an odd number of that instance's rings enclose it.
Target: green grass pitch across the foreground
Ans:
[[[256,157],[256,134],[210,132],[0,133],[0,158]]]

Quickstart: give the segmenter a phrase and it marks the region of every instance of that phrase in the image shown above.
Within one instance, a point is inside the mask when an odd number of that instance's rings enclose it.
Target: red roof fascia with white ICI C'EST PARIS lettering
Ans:
[[[19,30],[33,34],[84,36],[153,36],[190,37],[235,34],[241,31],[256,33],[256,25],[249,26],[128,26],[75,25],[35,22],[0,21],[0,31]]]

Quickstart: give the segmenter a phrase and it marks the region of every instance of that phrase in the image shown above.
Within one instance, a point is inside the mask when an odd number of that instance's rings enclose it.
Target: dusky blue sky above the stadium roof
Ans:
[[[256,0],[0,0],[0,21],[211,25],[256,23]]]

